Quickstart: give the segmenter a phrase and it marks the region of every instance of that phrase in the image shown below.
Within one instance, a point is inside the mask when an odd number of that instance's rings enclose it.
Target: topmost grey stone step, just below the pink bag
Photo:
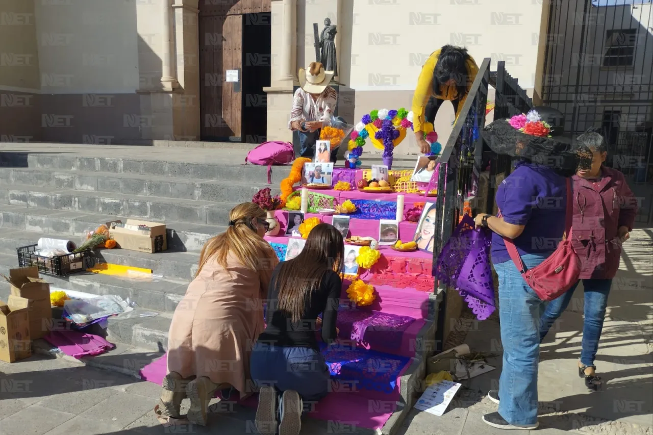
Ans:
[[[110,148],[97,148],[110,152]],[[189,153],[197,151],[189,150]],[[0,166],[7,168],[41,168],[78,170],[83,172],[110,172],[112,174],[136,174],[174,178],[195,178],[198,180],[223,180],[229,182],[266,183],[268,168],[244,165],[244,160],[227,158],[219,163],[184,163],[178,161],[156,161],[121,157],[86,157],[69,153],[30,153],[13,150],[3,151]],[[272,169],[274,184],[278,184],[290,173],[291,167],[276,166]]]

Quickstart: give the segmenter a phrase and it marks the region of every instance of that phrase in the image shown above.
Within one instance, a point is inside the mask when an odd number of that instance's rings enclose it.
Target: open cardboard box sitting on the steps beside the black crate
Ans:
[[[127,219],[125,223],[113,221],[106,226],[109,238],[116,240],[118,248],[123,250],[155,253],[168,249],[165,223]]]

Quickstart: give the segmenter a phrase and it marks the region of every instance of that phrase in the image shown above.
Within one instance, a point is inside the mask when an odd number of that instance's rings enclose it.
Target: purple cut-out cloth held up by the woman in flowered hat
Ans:
[[[496,309],[490,242],[488,232],[474,229],[474,220],[465,215],[434,265],[434,276],[454,287],[479,320],[487,319]]]

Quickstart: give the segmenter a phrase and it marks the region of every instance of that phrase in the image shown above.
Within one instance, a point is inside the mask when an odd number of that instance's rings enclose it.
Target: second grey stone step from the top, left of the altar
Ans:
[[[259,189],[270,187],[272,194],[279,185],[264,182],[226,182],[113,172],[63,171],[40,168],[0,168],[0,182],[59,189],[123,193],[150,198],[190,199],[214,202],[246,202]]]

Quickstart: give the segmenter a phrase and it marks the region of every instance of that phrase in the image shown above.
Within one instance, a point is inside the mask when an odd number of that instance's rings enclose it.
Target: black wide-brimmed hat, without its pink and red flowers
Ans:
[[[485,143],[497,154],[525,159],[571,176],[579,165],[579,146],[569,135],[565,135],[562,112],[549,107],[535,107],[533,110],[550,125],[550,137],[527,135],[503,119],[483,129],[481,135]]]

